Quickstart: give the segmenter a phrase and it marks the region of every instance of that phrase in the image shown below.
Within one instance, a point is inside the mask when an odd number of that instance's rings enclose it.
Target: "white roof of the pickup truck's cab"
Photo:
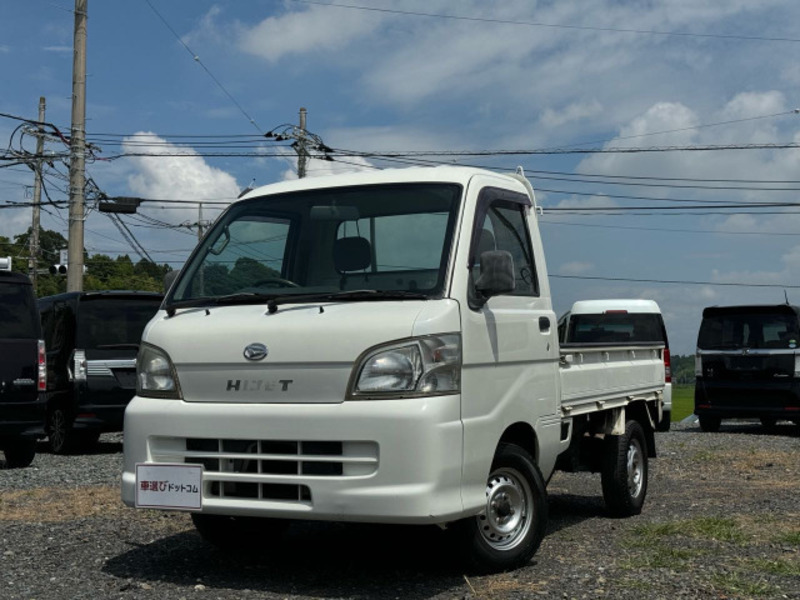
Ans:
[[[407,169],[383,169],[380,171],[353,171],[339,175],[326,175],[323,177],[306,177],[304,179],[294,179],[291,181],[281,181],[264,185],[242,196],[241,200],[265,196],[271,194],[282,194],[286,192],[296,192],[302,190],[314,190],[331,187],[346,187],[353,185],[376,185],[382,183],[416,183],[416,182],[437,182],[437,183],[459,183],[467,185],[473,177],[484,175],[487,177],[503,178],[516,184],[520,191],[525,192],[522,183],[515,176],[496,173],[485,169],[474,167],[409,167]]]

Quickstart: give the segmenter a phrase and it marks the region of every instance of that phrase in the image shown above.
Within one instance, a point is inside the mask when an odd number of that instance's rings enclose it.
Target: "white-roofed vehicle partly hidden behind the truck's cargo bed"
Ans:
[[[654,300],[579,300],[558,320],[562,344],[638,344],[664,346],[664,410],[658,431],[669,431],[672,422],[672,369],[667,328]]]

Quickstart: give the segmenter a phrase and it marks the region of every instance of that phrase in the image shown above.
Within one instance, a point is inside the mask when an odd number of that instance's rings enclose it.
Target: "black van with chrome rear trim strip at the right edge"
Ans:
[[[703,431],[722,419],[800,424],[800,309],[788,304],[703,311],[695,356],[694,412]]]

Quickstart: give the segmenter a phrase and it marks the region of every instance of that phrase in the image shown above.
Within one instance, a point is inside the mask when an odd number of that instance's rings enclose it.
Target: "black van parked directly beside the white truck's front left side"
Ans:
[[[47,345],[47,436],[64,454],[121,431],[136,391],[136,354],[158,311],[154,292],[67,292],[39,300]]]

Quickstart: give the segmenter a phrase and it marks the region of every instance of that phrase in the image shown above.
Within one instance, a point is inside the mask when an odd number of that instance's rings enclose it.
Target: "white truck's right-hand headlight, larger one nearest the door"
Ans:
[[[461,391],[461,336],[432,335],[372,348],[356,365],[350,398],[404,398]]]

